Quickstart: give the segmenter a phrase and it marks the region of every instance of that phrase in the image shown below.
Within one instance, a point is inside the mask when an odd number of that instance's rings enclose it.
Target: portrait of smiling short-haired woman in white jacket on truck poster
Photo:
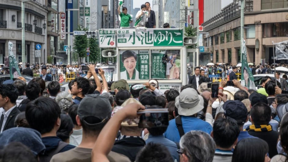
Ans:
[[[120,79],[139,79],[139,72],[135,69],[137,54],[134,51],[124,51],[121,57],[125,71],[120,72]]]

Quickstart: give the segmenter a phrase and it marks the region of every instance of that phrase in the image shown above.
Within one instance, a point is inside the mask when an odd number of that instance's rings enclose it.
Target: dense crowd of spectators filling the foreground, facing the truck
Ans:
[[[68,92],[43,77],[0,85],[0,161],[287,161],[288,91],[268,76],[257,91],[234,79],[234,94],[222,79],[212,98],[200,67],[180,92],[164,93],[155,79],[129,87],[88,67]],[[139,128],[144,109],[165,110],[168,126]]]

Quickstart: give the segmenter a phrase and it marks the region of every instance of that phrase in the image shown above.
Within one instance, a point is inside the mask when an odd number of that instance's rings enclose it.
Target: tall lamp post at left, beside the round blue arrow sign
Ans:
[[[30,0],[21,1],[21,27],[22,27],[22,69],[25,68],[25,5],[24,2]],[[27,54],[28,55],[28,54]]]

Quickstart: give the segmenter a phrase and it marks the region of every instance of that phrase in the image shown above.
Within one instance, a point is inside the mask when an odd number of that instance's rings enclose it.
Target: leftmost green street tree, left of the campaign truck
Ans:
[[[78,25],[78,28],[76,29],[78,31],[87,31],[86,28],[81,28],[80,25]],[[87,36],[75,36],[74,37],[74,51],[78,53],[79,57],[86,57],[87,51],[86,48],[88,47],[88,39]]]

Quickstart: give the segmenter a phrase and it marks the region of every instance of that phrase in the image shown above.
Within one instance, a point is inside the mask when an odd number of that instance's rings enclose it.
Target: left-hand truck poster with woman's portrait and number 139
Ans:
[[[120,79],[149,79],[149,50],[120,50]]]

